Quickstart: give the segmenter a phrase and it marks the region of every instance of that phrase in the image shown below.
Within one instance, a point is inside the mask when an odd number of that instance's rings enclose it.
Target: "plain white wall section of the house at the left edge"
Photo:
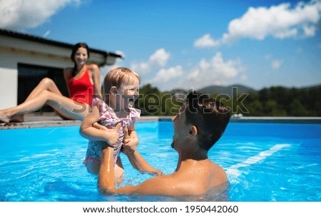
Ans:
[[[18,69],[0,68],[0,110],[16,106]]]

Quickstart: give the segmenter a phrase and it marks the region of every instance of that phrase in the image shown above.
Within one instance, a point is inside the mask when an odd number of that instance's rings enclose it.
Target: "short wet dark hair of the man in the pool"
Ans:
[[[190,92],[186,99],[186,124],[198,129],[200,148],[210,150],[223,135],[230,120],[229,109],[207,94]]]

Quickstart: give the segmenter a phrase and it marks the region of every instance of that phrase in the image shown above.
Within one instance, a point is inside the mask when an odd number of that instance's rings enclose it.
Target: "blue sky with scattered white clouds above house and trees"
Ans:
[[[116,66],[161,91],[321,83],[320,0],[8,0],[0,12],[1,29],[123,53]]]

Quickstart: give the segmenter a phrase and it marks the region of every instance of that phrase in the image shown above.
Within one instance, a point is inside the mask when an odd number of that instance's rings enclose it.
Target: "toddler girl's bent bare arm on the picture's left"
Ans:
[[[121,128],[121,123],[118,123],[114,129],[107,129],[97,123],[99,118],[98,106],[93,106],[92,112],[88,113],[81,123],[80,134],[89,140],[105,141],[115,147],[119,138],[118,130]]]

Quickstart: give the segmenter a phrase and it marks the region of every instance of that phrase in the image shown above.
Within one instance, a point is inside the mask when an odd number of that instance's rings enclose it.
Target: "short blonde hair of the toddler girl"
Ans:
[[[141,84],[141,77],[128,68],[113,68],[107,73],[103,79],[103,98],[106,102],[109,101],[109,93],[111,92],[111,87],[116,86],[119,88],[121,84],[128,83],[132,77],[138,78]]]

